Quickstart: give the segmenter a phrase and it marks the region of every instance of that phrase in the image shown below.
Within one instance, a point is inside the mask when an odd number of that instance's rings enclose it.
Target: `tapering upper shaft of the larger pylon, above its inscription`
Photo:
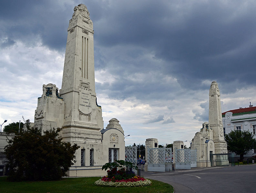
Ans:
[[[61,94],[78,89],[87,82],[95,92],[93,23],[87,7],[75,6],[69,20]]]

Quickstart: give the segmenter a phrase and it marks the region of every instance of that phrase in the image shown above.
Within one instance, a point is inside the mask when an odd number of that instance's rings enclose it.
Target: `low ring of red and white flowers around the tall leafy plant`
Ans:
[[[135,187],[135,186],[148,186],[151,184],[151,181],[139,176],[134,176],[133,178],[130,179],[113,179],[113,178],[108,178],[104,176],[102,179],[97,180],[95,185],[98,186],[115,186],[115,187]]]

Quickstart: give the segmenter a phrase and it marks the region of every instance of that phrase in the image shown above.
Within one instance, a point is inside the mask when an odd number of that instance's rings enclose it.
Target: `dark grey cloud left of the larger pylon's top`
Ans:
[[[2,2],[0,37],[33,45],[34,37],[39,36],[44,45],[63,50],[67,39],[65,31],[72,13],[72,7],[66,10],[64,3],[61,6],[57,1]]]

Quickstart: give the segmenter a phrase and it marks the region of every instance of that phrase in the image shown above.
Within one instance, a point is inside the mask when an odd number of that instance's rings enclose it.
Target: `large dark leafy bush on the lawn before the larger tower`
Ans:
[[[60,128],[43,131],[42,128],[21,130],[14,138],[7,140],[5,155],[9,160],[9,179],[17,180],[58,180],[66,176],[72,166],[77,144],[62,142]]]

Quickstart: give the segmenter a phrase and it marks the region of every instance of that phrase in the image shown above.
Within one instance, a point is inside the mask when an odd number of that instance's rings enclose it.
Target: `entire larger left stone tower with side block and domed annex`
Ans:
[[[93,24],[85,5],[75,6],[67,31],[62,89],[43,85],[35,126],[62,127],[62,140],[80,146],[68,176],[104,176],[105,163],[125,159],[124,130],[115,118],[103,129],[95,93]]]

